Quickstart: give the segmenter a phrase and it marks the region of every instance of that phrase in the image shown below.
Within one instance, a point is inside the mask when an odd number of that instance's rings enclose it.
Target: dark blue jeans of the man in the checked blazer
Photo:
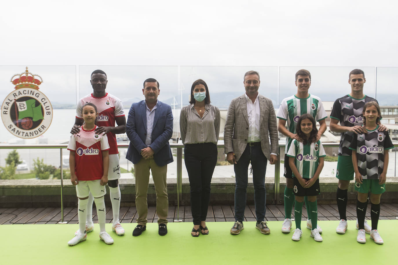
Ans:
[[[246,207],[246,189],[248,187],[248,166],[252,164],[254,184],[254,206],[257,221],[265,218],[265,170],[267,158],[261,150],[261,144],[246,145],[239,161],[234,164],[235,170],[235,221],[243,222]]]

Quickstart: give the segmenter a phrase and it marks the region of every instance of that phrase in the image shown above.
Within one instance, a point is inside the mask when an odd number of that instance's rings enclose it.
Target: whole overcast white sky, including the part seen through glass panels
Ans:
[[[365,93],[375,96],[377,82],[379,101],[388,99],[380,103],[395,105],[397,7],[392,0],[7,1],[0,17],[0,96],[12,91],[10,77],[29,66],[43,76],[41,89],[52,102],[73,103],[90,93],[97,68],[108,74],[107,91],[123,101],[143,99],[142,81],[155,77],[161,100],[176,96],[180,103],[178,89],[188,93],[202,78],[229,102],[244,92],[244,72],[258,70],[260,93],[277,106],[297,91],[300,68],[310,70],[310,93],[324,101],[349,93],[347,74],[361,68]]]

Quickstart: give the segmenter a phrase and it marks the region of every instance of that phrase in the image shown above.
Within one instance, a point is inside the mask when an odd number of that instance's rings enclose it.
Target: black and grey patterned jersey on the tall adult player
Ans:
[[[366,95],[363,99],[354,99],[350,95],[345,95],[344,97],[336,99],[334,102],[330,118],[339,120],[341,126],[362,126],[364,120],[362,115],[363,106],[369,101],[377,102],[373,97],[368,97]],[[339,155],[352,155],[352,151],[349,150],[349,145],[354,134],[354,132],[341,133]]]

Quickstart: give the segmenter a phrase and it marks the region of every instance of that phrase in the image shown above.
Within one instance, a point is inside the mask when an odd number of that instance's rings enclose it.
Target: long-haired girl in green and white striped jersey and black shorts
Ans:
[[[292,240],[298,241],[302,235],[301,216],[304,196],[308,196],[309,212],[311,217],[312,229],[311,236],[315,241],[322,242],[322,236],[317,229],[318,206],[316,196],[320,194],[319,175],[324,166],[325,150],[321,141],[316,141],[318,130],[315,120],[310,114],[300,116],[296,127],[297,135],[303,141],[293,140],[287,156],[289,165],[293,172],[295,193],[295,221]]]

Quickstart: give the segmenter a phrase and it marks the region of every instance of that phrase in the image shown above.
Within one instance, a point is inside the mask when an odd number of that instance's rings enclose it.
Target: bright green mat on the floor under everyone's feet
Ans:
[[[370,221],[369,221],[370,222]],[[396,263],[397,220],[380,220],[379,232],[384,245],[366,235],[366,244],[356,242],[355,221],[348,221],[344,235],[336,234],[338,221],[318,221],[323,242],[315,242],[302,221],[300,241],[291,240],[292,232],[281,232],[282,222],[267,222],[271,234],[264,235],[255,222],[244,222],[239,235],[229,233],[233,222],[207,222],[210,233],[195,238],[193,224],[168,224],[168,234],[158,235],[158,225],[148,223],[140,236],[132,236],[135,223],[123,223],[125,236],[116,236],[111,224],[107,232],[115,243],[99,239],[99,225],[84,242],[68,246],[78,224],[0,225],[2,264],[386,264]]]

